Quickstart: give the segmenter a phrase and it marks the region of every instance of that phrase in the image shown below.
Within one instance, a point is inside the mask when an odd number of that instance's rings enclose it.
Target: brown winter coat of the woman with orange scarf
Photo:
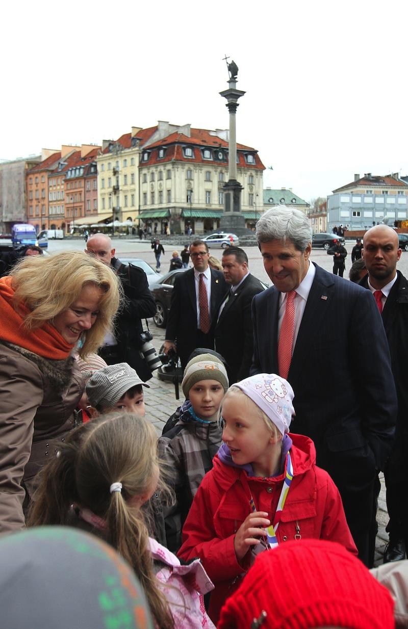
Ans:
[[[84,389],[74,363],[0,342],[0,533],[25,526],[34,477],[74,427]]]

